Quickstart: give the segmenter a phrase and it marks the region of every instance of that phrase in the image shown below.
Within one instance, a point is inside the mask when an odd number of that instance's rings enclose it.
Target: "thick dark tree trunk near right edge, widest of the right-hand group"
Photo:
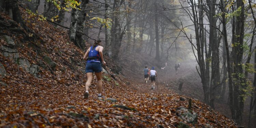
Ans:
[[[236,17],[236,36],[234,38],[234,105],[236,107],[235,120],[238,125],[242,123],[242,113],[244,108],[244,96],[246,90],[246,80],[243,74],[243,38],[244,38],[244,2],[237,0],[237,8],[241,8],[241,14]],[[239,36],[237,36],[239,35]]]

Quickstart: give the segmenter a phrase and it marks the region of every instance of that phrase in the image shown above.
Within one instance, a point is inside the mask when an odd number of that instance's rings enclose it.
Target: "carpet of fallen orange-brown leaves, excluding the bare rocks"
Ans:
[[[26,15],[23,13],[23,15]],[[25,17],[26,18],[26,17]],[[26,19],[30,20],[30,19]],[[36,43],[38,49],[28,48],[31,42],[18,43],[24,45],[19,48],[20,57],[27,58],[30,63],[38,64],[42,55],[47,55],[57,63],[54,74],[44,68],[40,77],[25,72],[12,60],[0,54],[0,61],[6,68],[7,76],[1,80],[6,86],[0,86],[0,127],[175,127],[182,121],[176,115],[176,108],[186,106],[187,101],[180,102],[180,95],[164,91],[162,93],[148,91],[147,85],[138,81],[126,85],[123,77],[104,73],[110,81],[103,81],[102,95],[105,98],[114,98],[117,101],[102,101],[97,99],[97,79],[89,88],[89,99],[83,99],[86,77],[82,73],[85,65],[81,59],[83,51],[69,42],[67,32],[55,29],[46,22],[30,20],[31,28],[38,33],[44,42]],[[28,25],[29,26],[29,25]],[[3,44],[2,41],[0,41]],[[41,52],[37,55],[36,52]],[[108,59],[105,69],[115,65]],[[62,69],[65,67],[65,70]],[[117,84],[119,86],[117,86]],[[164,87],[164,86],[163,86]],[[135,90],[137,89],[137,90]],[[154,98],[155,97],[155,98]],[[113,107],[124,105],[131,110]],[[136,109],[137,111],[133,111]],[[208,106],[198,100],[193,100],[193,111],[198,115],[198,123],[194,127],[211,124],[214,127],[234,126],[233,122],[218,113],[210,113]],[[28,116],[26,113],[33,111]],[[41,114],[39,116],[38,114]]]

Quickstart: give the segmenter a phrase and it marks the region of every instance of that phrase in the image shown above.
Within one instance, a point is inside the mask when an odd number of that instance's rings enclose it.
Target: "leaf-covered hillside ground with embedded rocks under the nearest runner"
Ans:
[[[22,9],[20,9],[22,10]],[[143,93],[143,85],[118,75],[106,58],[103,95],[97,100],[96,78],[83,99],[86,75],[83,51],[55,29],[22,10],[24,34],[6,14],[0,20],[0,127],[236,127],[208,105],[174,92]],[[14,29],[15,28],[15,29]],[[162,85],[163,86],[163,85]]]

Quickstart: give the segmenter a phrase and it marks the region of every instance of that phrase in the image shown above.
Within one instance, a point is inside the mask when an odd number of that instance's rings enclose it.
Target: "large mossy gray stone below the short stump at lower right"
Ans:
[[[186,108],[180,108],[177,110],[177,113],[181,119],[190,124],[195,124],[197,122],[197,114],[194,111],[188,110]]]

